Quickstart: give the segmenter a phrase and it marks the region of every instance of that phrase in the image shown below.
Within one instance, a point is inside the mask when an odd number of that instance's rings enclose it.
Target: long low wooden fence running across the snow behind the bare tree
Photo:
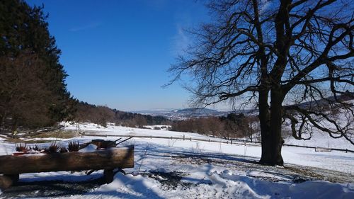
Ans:
[[[81,132],[81,136],[92,136],[92,137],[137,137],[137,138],[156,138],[156,139],[169,139],[169,140],[190,140],[190,141],[200,141],[200,142],[215,142],[215,143],[223,143],[223,144],[236,144],[236,145],[247,145],[247,146],[255,146],[255,147],[260,147],[261,142],[250,142],[247,140],[239,140],[239,139],[229,139],[229,140],[213,140],[213,139],[201,139],[201,138],[193,138],[193,137],[173,137],[173,136],[152,136],[152,135],[110,135],[110,134],[92,134],[92,133],[85,133]],[[220,137],[214,137],[218,139],[223,139]],[[324,148],[324,147],[308,147],[308,146],[301,146],[301,145],[295,145],[295,144],[283,144],[283,146],[287,147],[301,147],[301,148],[307,148],[307,149],[321,149],[321,150],[327,150],[327,151],[339,151],[339,152],[351,152],[354,153],[353,150],[350,149],[336,149],[336,148]]]

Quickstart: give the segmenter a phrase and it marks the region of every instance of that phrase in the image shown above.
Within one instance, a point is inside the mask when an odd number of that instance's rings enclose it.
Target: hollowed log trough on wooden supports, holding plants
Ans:
[[[0,156],[0,188],[16,183],[19,174],[47,171],[81,171],[104,169],[107,183],[113,181],[113,169],[134,167],[134,146],[112,147],[96,152],[67,152]]]

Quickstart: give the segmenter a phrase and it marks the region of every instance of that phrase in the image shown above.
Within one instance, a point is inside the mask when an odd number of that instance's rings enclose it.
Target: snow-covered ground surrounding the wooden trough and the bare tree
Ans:
[[[66,125],[76,130],[77,125]],[[195,137],[204,135],[131,127],[107,128],[81,124],[79,130],[101,135],[152,135]],[[87,142],[102,137],[76,137]],[[108,137],[116,140],[118,137]],[[60,140],[63,144],[69,140]],[[84,195],[16,195],[17,198],[354,198],[354,154],[314,152],[283,147],[285,167],[256,164],[261,147],[241,143],[221,144],[189,140],[134,138],[135,167],[127,175],[115,174],[109,184],[91,188]],[[321,141],[322,142],[322,141]],[[335,140],[333,142],[336,142]],[[350,146],[347,146],[350,147]],[[348,148],[348,149],[353,149]],[[14,144],[0,140],[0,154],[11,154]],[[82,173],[21,174],[20,181],[84,181],[97,178]],[[6,191],[1,197],[11,197]],[[12,195],[13,196],[13,195]]]

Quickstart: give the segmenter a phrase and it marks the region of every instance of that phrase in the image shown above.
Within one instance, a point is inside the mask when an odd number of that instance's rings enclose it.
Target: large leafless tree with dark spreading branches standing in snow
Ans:
[[[193,77],[194,103],[207,106],[239,96],[255,100],[262,164],[283,165],[282,122],[292,134],[314,128],[353,144],[353,2],[346,0],[219,0],[207,4],[212,23],[190,33],[195,41],[170,71]],[[345,113],[333,120],[324,104]],[[290,105],[290,106],[287,106]]]

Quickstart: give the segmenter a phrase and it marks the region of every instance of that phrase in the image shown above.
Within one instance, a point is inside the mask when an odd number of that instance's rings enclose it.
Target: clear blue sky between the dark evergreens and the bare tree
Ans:
[[[81,101],[119,110],[185,108],[190,94],[167,69],[187,47],[183,28],[206,21],[202,1],[30,0],[45,5],[62,50],[67,89]]]

